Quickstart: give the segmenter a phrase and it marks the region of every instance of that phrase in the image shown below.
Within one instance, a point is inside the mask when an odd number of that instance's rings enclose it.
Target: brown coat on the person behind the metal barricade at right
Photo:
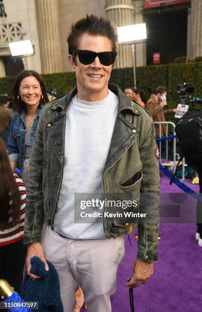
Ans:
[[[156,99],[154,94],[151,95],[150,99],[147,101],[146,109],[152,115],[154,121],[166,121],[165,115],[173,113],[173,110],[164,110],[160,105],[160,101]],[[160,137],[160,126],[155,124],[156,137]],[[161,137],[166,136],[166,127],[161,125]]]

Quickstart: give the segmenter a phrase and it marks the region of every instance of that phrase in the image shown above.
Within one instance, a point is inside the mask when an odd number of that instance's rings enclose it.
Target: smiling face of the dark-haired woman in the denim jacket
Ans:
[[[34,76],[22,79],[19,95],[26,106],[38,107],[42,95],[39,81]]]

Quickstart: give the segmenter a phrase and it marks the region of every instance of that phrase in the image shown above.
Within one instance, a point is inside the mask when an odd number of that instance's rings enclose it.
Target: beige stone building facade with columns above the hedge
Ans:
[[[177,12],[179,9],[184,10],[187,23],[187,42],[185,42],[186,51],[183,52],[188,58],[194,59],[194,57],[202,55],[202,1],[175,1],[187,3],[186,7],[172,6],[171,13],[175,10]],[[147,21],[147,18],[154,19],[152,17],[154,9],[146,9],[147,2],[151,3],[152,1],[4,0],[7,18],[0,18],[0,76],[15,75],[23,68],[35,69],[39,73],[70,71],[67,61],[67,35],[73,22],[86,14],[96,14],[110,18],[118,27],[142,23]],[[167,13],[167,9],[163,11],[162,5],[159,5],[159,8],[161,9],[158,9],[159,13]],[[165,16],[169,16],[169,14]],[[155,18],[156,16],[158,18],[158,15],[155,15]],[[149,30],[148,35],[150,34],[152,32]],[[26,39],[32,41],[35,55],[23,60],[11,58],[9,42]],[[156,45],[156,49],[158,49],[158,45]],[[146,42],[136,44],[136,66],[147,65],[147,53]],[[132,67],[132,65],[131,45],[119,45],[115,68]]]

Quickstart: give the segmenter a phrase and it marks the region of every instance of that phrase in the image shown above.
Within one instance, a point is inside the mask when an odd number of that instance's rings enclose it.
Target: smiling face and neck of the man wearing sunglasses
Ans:
[[[94,52],[111,51],[111,42],[107,37],[91,36],[84,33],[79,38],[78,50],[90,50]],[[68,56],[70,65],[75,71],[78,89],[78,98],[86,101],[100,101],[108,94],[108,82],[112,65],[104,66],[96,57],[90,65],[83,65],[76,55],[76,65],[73,57]]]

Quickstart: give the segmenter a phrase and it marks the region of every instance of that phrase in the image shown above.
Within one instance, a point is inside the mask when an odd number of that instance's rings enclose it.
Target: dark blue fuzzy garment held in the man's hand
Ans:
[[[49,271],[46,271],[44,262],[39,257],[31,258],[31,264],[37,265],[38,272],[35,274],[41,276],[33,280],[25,273],[22,285],[22,298],[24,301],[39,301],[39,312],[63,312],[61,301],[59,276],[54,266],[47,261]]]

